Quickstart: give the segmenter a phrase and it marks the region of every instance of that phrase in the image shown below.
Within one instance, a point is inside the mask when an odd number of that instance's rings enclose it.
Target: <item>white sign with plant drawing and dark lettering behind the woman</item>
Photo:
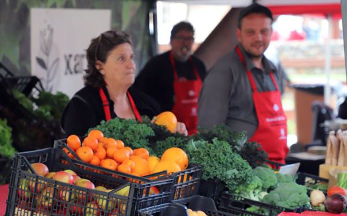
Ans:
[[[110,30],[111,10],[31,8],[31,70],[47,91],[81,89],[91,39]]]

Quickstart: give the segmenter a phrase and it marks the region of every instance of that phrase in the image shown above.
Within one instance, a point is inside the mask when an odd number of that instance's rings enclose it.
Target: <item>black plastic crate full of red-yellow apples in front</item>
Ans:
[[[87,189],[38,176],[30,165],[34,162],[44,163],[50,171],[71,169],[81,178],[91,180],[95,186],[114,190]],[[156,180],[135,176],[129,179],[124,173],[104,175],[107,169],[95,169],[92,165],[71,161],[64,151],[56,148],[17,153],[11,169],[6,216],[37,213],[77,216],[87,212],[98,216],[134,216],[140,208],[169,202],[174,182],[174,178],[168,175],[161,175]],[[114,193],[127,186],[128,196]],[[151,194],[151,187],[156,187],[159,193]]]

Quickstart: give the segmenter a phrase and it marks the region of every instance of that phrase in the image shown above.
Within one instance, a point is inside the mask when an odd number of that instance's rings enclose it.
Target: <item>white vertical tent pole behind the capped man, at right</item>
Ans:
[[[327,42],[325,44],[325,75],[327,78],[327,82],[324,86],[324,103],[326,105],[330,105],[330,71],[331,71],[331,22],[332,18],[331,15],[328,14],[327,16],[328,20],[328,35],[327,35]]]

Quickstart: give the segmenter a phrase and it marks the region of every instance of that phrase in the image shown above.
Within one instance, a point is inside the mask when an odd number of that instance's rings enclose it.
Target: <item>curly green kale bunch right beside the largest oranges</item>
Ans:
[[[204,166],[202,179],[217,178],[234,191],[244,182],[250,182],[252,168],[247,161],[235,153],[229,143],[212,139],[212,143],[199,140],[187,145],[189,162]]]

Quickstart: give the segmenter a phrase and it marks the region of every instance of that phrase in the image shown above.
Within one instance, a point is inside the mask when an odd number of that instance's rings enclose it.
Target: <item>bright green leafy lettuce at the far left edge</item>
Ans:
[[[16,149],[12,146],[12,129],[7,125],[6,119],[0,119],[0,154],[12,158]]]

